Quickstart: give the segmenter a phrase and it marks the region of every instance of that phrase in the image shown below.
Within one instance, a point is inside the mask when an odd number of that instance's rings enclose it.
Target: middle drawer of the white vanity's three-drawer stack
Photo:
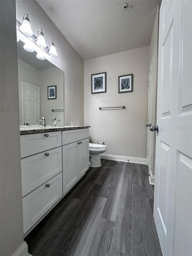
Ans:
[[[21,159],[22,196],[38,188],[61,171],[61,147]]]

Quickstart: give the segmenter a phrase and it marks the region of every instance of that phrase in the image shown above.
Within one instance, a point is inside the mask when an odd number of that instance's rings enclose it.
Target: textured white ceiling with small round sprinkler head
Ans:
[[[37,0],[82,59],[150,44],[158,0]],[[123,4],[128,3],[128,9]],[[56,45],[56,42],[55,42]]]

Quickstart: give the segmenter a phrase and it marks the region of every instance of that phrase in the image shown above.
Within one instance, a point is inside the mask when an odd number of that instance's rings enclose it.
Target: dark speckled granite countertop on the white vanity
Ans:
[[[90,126],[20,126],[20,135],[51,132],[51,131],[66,131],[76,129],[86,129]]]

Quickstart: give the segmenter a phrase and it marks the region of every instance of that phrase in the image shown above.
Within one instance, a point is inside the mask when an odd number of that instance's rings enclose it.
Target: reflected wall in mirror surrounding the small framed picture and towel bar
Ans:
[[[64,74],[59,68],[48,68],[40,71],[40,116],[44,116],[47,125],[52,125],[52,119],[54,116],[58,116],[61,119],[57,122],[57,125],[64,125],[64,112],[52,112],[51,109],[63,109],[64,108]],[[47,86],[57,86],[57,99],[47,99]]]

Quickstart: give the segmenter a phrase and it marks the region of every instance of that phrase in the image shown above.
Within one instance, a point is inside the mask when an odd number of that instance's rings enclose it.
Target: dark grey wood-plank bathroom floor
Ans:
[[[26,236],[33,256],[162,256],[147,166],[101,160]]]

